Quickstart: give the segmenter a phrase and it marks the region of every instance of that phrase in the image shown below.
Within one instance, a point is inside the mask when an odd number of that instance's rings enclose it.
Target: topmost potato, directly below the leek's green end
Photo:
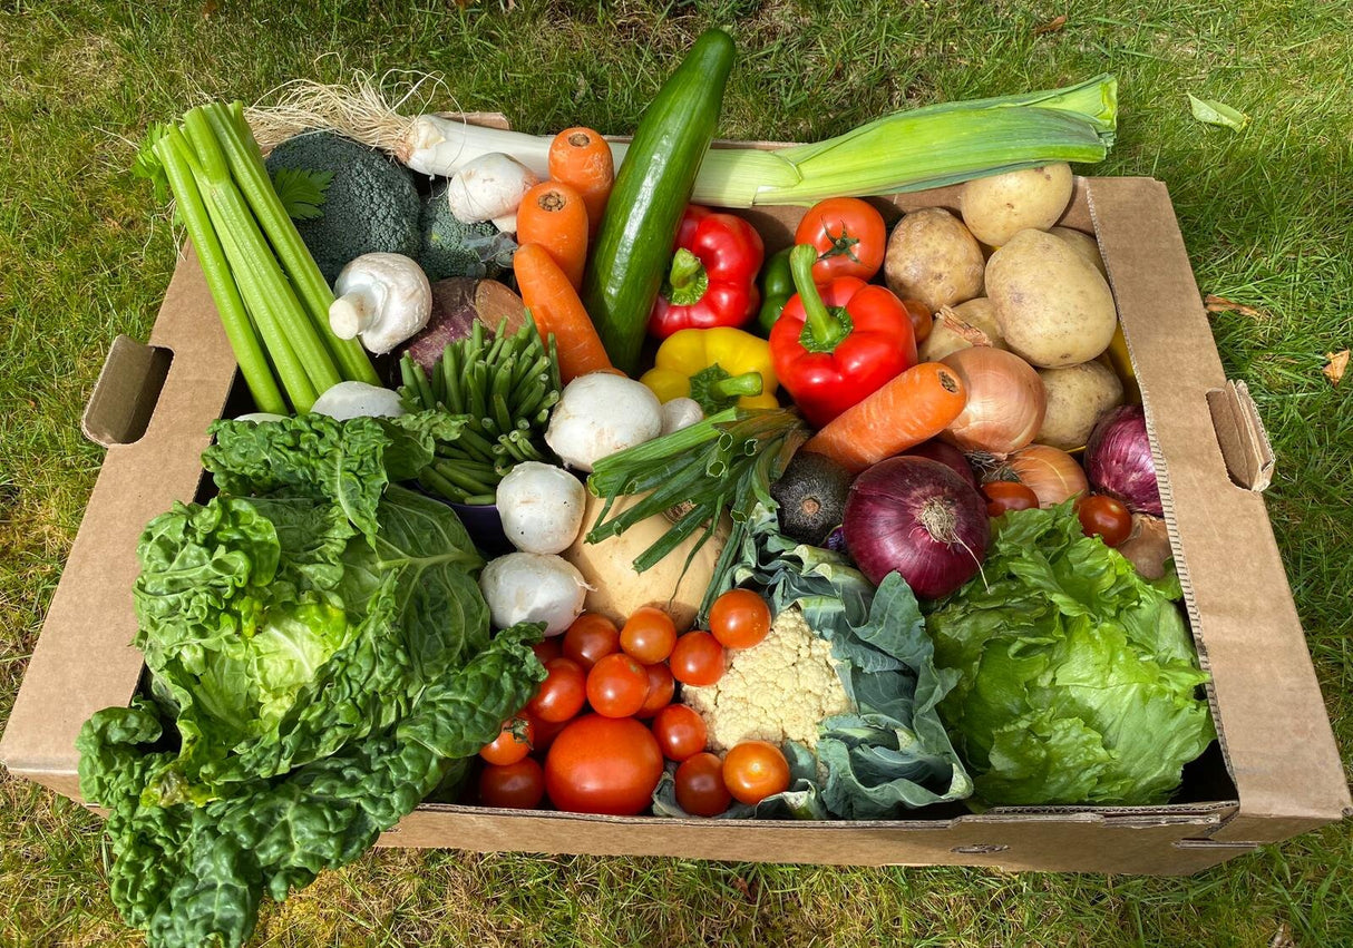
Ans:
[[[1034,227],[1047,230],[1072,200],[1072,166],[1026,168],[969,181],[959,192],[963,223],[973,237],[993,247]]]

